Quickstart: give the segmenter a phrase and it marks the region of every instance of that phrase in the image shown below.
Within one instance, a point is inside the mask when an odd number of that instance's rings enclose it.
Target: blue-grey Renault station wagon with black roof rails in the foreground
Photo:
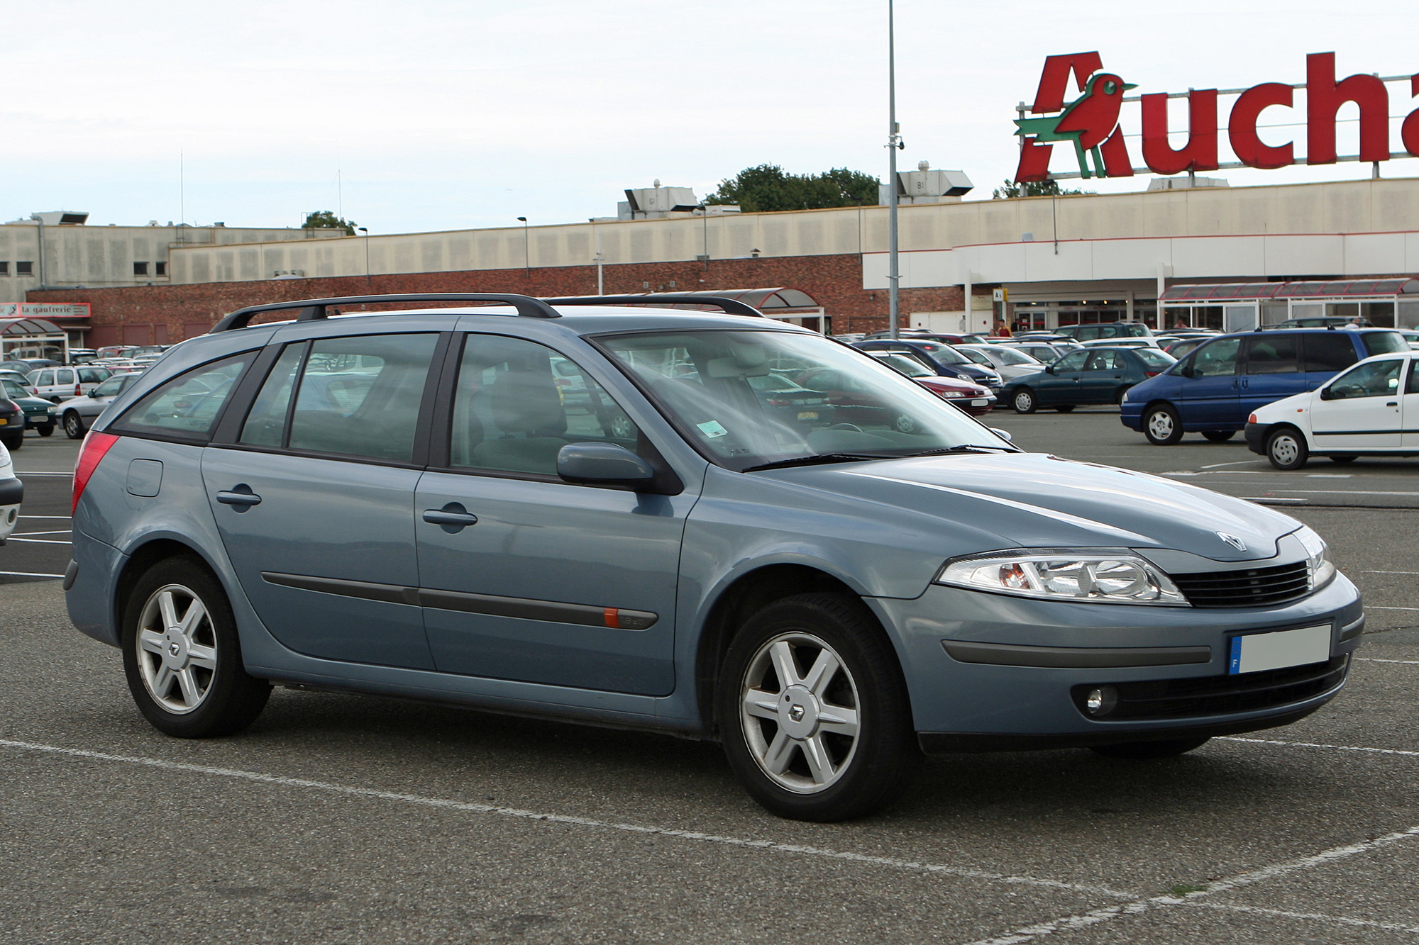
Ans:
[[[824,370],[873,409],[775,402]],[[1020,450],[705,297],[234,312],[94,423],[64,587],[169,735],[237,732],[272,684],[653,729],[807,820],[922,752],[1293,722],[1364,626],[1300,522]]]

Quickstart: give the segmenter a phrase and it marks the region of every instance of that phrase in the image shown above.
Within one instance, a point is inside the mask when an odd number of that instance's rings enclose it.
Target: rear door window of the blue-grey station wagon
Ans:
[[[419,333],[289,345],[257,394],[240,441],[412,463],[437,343],[437,335]]]

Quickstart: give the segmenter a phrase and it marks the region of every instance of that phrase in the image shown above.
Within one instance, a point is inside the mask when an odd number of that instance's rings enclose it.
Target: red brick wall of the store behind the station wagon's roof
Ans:
[[[833,332],[871,332],[887,328],[887,291],[863,291],[861,261],[849,255],[802,255],[702,262],[634,262],[607,265],[606,294],[697,291],[715,288],[788,287],[807,292],[833,318]],[[126,288],[47,289],[30,292],[31,302],[89,302],[91,346],[129,338],[192,338],[244,305],[299,298],[329,298],[383,292],[524,292],[528,295],[595,295],[596,267],[576,265],[461,272],[402,272],[343,275],[260,282],[200,282],[196,285],[135,285]],[[961,288],[902,289],[902,324],[910,312],[961,311]],[[142,342],[155,343],[155,342]]]

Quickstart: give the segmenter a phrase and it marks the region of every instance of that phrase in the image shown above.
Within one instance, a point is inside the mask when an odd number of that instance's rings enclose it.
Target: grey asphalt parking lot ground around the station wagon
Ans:
[[[1108,411],[989,420],[1154,472],[1250,461],[1138,446]],[[75,446],[16,453],[26,512],[68,511],[67,480],[34,472]],[[1368,464],[1347,472],[1384,491],[1419,470]],[[765,814],[712,744],[365,697],[277,690],[238,736],[169,739],[116,651],[68,626],[58,582],[6,586],[0,941],[1419,941],[1419,512],[1291,512],[1371,604],[1325,709],[1158,762],[932,756],[901,803],[844,824]],[[61,573],[67,552],[0,556]]]

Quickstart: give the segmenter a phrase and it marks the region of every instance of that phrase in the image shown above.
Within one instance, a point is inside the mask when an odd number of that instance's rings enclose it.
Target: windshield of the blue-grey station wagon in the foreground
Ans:
[[[820,335],[688,331],[602,336],[717,463],[746,470],[822,454],[914,455],[971,444],[1012,447],[877,359]],[[782,375],[816,392],[766,396],[755,377]]]

